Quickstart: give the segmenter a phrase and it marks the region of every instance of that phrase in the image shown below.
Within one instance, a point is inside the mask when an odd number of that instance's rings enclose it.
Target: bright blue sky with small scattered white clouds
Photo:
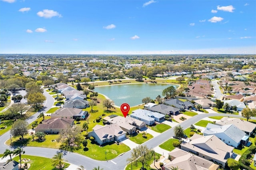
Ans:
[[[255,0],[0,0],[0,53],[256,53]]]

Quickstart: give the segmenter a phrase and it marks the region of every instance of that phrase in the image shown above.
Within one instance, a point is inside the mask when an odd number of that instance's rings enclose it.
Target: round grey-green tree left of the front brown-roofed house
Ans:
[[[12,124],[12,128],[10,134],[12,136],[21,136],[22,140],[24,139],[24,135],[28,133],[28,122],[24,120],[18,120]]]

